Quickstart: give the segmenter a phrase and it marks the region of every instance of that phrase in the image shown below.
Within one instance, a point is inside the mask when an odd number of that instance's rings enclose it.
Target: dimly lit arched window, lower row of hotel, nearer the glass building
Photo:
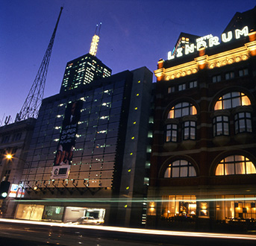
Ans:
[[[196,177],[196,169],[187,160],[175,160],[166,168],[164,177]]]

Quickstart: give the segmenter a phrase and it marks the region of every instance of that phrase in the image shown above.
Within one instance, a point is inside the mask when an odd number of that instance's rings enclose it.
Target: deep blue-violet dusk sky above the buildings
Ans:
[[[255,5],[255,0],[1,0],[0,121],[9,115],[14,120],[21,109],[61,6],[44,98],[59,92],[66,63],[89,52],[99,22],[96,56],[112,74],[141,66],[153,72],[181,32],[220,37],[236,12]]]

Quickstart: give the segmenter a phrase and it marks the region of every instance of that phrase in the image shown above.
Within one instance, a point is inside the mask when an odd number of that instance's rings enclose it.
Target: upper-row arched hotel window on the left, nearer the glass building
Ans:
[[[183,116],[193,116],[196,115],[196,107],[187,101],[176,104],[169,110],[168,119],[175,119]]]

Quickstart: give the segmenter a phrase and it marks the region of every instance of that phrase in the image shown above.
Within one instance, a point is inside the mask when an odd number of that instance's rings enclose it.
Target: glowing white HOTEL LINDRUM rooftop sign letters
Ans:
[[[249,28],[248,26],[244,27],[242,30],[236,29],[233,31],[228,31],[228,33],[223,33],[221,37],[221,42],[230,42],[234,38],[236,40],[240,39],[241,36],[248,36],[249,35]],[[219,45],[219,37],[213,37],[212,34],[206,35],[204,37],[199,37],[196,39],[196,44],[185,44],[185,47],[177,48],[176,53],[172,54],[172,51],[168,52],[168,60],[172,60],[175,57],[182,57],[187,54],[192,54],[195,51],[199,51],[199,48],[205,47],[213,47]]]

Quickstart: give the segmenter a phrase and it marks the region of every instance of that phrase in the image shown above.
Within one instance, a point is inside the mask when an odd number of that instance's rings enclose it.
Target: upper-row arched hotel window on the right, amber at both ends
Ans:
[[[214,110],[226,110],[238,106],[251,105],[251,101],[243,92],[229,92],[222,95],[214,106]]]

